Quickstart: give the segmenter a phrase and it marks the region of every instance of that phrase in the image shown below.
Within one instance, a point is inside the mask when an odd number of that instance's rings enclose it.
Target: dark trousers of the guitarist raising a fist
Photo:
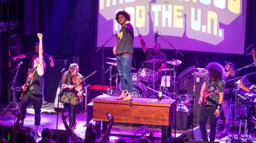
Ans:
[[[43,98],[41,94],[32,94],[30,91],[28,91],[24,97],[22,104],[20,106],[20,112],[22,114],[22,120],[26,118],[27,113],[27,105],[31,102],[34,110],[35,110],[35,125],[40,125],[41,122],[41,108],[42,108],[42,102]]]

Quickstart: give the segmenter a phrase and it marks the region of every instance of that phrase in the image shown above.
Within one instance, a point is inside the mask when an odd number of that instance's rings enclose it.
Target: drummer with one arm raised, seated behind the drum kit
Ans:
[[[146,43],[144,42],[142,35],[139,34],[139,39],[141,40],[141,46],[143,49],[143,52],[146,54],[146,60],[150,60],[150,59],[162,59],[162,62],[156,62],[155,63],[155,72],[158,73],[158,83],[160,84],[161,81],[161,77],[164,75],[164,72],[161,71],[162,69],[166,68],[166,54],[164,54],[163,52],[160,51],[160,44],[158,42],[156,42],[154,44],[154,46],[151,49],[148,49],[146,47]],[[149,68],[151,70],[153,70],[153,63],[146,63],[146,68]]]

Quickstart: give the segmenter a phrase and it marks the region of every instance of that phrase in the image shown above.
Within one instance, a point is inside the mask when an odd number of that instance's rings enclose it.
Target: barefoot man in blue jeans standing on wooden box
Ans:
[[[122,26],[117,36],[117,44],[113,48],[113,53],[117,55],[118,75],[122,85],[121,96],[117,99],[129,101],[133,99],[133,80],[131,79],[134,40],[133,26],[130,24],[130,15],[126,11],[117,12],[115,20]]]

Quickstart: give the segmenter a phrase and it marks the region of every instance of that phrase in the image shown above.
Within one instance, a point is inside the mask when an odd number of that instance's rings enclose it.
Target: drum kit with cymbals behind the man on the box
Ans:
[[[106,62],[107,64],[111,65],[109,68],[109,70],[110,70],[110,87],[111,87],[112,77],[115,76],[115,92],[108,92],[107,94],[109,94],[111,96],[119,96],[120,92],[122,91],[122,88],[121,88],[121,83],[118,83],[118,73],[116,73],[113,76],[111,74],[112,67],[117,66],[117,63],[115,62],[116,58],[109,58],[109,57],[107,57],[107,58],[114,60],[114,62]],[[157,72],[155,72],[155,63],[163,62],[163,61],[164,61],[163,59],[144,60],[144,63],[153,63],[153,70],[151,70],[149,68],[139,68],[138,72],[131,73],[131,77],[132,77],[133,85],[134,85],[133,97],[137,97],[137,98],[155,98],[156,97],[157,91],[154,90],[154,89],[156,89],[154,87],[158,87],[158,76],[159,75]],[[165,79],[164,80],[165,84],[161,84],[161,85],[164,85],[163,93],[168,96],[170,96],[171,94],[168,92],[168,89],[167,89],[167,83],[168,83],[167,82],[167,72],[170,71],[170,76],[171,76],[171,71],[174,70],[174,66],[178,66],[181,63],[182,62],[180,60],[167,61],[166,64],[169,64],[170,66],[172,66],[172,68],[166,67],[161,70],[161,71],[164,71],[164,76],[162,78]],[[131,69],[137,70],[136,68],[133,68],[133,67],[131,67]],[[169,77],[168,79],[172,80],[172,76],[171,76],[171,78]],[[173,83],[173,82],[170,81],[169,83]],[[156,86],[155,86],[155,84],[156,84]],[[171,86],[170,86],[170,88],[171,88]],[[112,89],[109,89],[109,90],[112,91]]]

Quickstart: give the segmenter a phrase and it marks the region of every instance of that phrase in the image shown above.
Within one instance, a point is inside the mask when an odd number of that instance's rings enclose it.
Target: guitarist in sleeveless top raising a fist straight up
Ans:
[[[20,111],[22,113],[21,124],[23,125],[24,119],[26,118],[27,105],[29,102],[32,103],[35,110],[35,131],[39,136],[39,125],[41,122],[41,108],[43,102],[43,89],[44,89],[44,69],[46,63],[43,59],[43,34],[38,33],[39,38],[39,57],[35,58],[32,62],[32,69],[28,72],[26,84],[22,86],[22,104]]]

